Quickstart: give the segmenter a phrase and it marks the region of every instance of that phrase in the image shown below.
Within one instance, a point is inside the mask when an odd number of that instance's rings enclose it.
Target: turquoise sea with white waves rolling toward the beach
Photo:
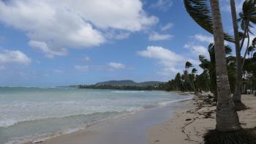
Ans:
[[[190,98],[165,91],[0,87],[0,143],[36,142]]]

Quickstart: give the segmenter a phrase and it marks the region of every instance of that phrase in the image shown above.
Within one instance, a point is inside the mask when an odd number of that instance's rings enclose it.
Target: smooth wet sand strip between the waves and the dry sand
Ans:
[[[48,140],[39,141],[37,143],[147,143],[148,129],[152,126],[168,121],[173,117],[173,111],[184,109],[187,107],[187,103],[192,101],[191,99],[184,99],[179,102],[171,102],[171,104],[167,104],[165,106],[151,107],[145,110],[140,110],[134,114],[126,115],[122,118],[102,121],[99,124],[89,126],[86,129],[78,132],[63,134]],[[154,115],[154,117],[152,117],[152,115]],[[124,143],[124,141],[126,143]]]

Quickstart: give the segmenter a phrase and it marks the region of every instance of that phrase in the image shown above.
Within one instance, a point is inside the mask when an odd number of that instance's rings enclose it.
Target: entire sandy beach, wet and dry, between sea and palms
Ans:
[[[205,98],[206,97],[206,98]],[[216,106],[208,94],[167,107],[142,110],[126,118],[105,121],[79,132],[65,134],[42,144],[194,144],[215,127]],[[256,126],[256,97],[242,96],[248,110],[238,112],[244,128]],[[175,111],[170,111],[173,109]]]

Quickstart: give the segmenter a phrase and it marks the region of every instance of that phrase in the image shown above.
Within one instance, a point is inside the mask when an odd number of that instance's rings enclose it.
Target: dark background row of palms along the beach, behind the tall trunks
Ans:
[[[253,93],[256,90],[256,39],[253,40],[250,46],[247,57],[244,62],[244,69],[242,71],[241,94]],[[225,45],[225,54],[227,61],[227,75],[230,83],[230,91],[232,94],[236,88],[236,56],[232,56],[232,48]],[[167,83],[159,84],[158,89],[165,91],[211,91],[217,96],[217,81],[215,68],[214,43],[208,45],[208,55],[199,56],[199,67],[203,69],[200,74],[197,73],[194,65],[187,61],[184,64],[184,72],[178,72],[176,76]],[[246,91],[249,90],[249,91]]]

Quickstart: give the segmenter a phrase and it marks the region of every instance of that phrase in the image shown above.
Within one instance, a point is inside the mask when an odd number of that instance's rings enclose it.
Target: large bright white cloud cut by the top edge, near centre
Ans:
[[[140,31],[158,21],[158,18],[146,15],[140,0],[76,0],[69,1],[69,5],[102,29]]]

